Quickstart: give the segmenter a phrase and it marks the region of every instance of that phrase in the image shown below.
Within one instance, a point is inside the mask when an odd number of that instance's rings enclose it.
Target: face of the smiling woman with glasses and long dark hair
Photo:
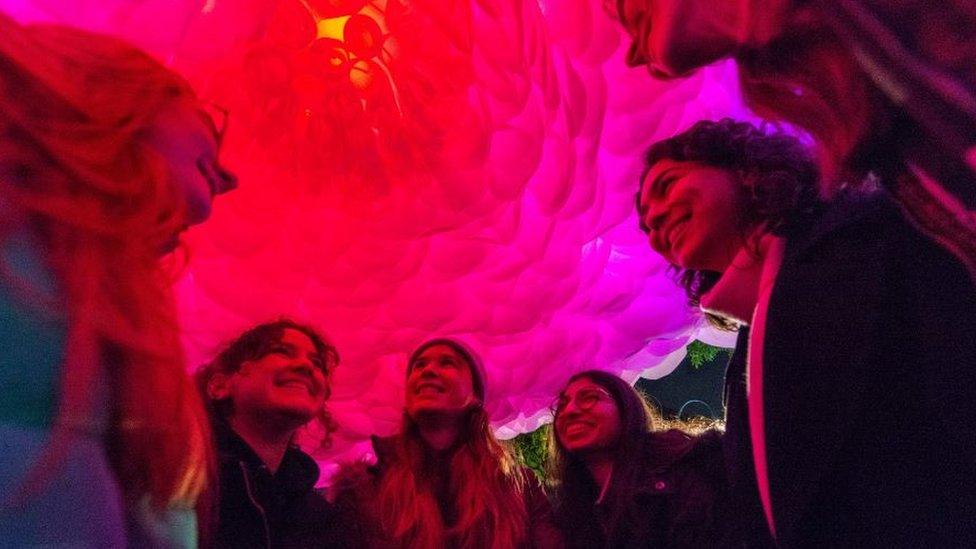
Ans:
[[[613,447],[620,437],[620,411],[610,393],[587,378],[573,380],[556,401],[553,424],[570,453]]]

